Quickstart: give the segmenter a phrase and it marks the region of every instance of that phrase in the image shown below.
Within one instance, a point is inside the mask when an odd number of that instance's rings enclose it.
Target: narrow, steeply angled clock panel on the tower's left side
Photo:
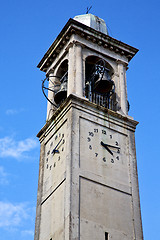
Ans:
[[[65,124],[48,135],[44,154],[44,195],[59,184],[65,172]]]

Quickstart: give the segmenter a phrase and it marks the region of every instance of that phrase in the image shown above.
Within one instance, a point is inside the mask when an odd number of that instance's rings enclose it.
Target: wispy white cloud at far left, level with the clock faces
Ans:
[[[20,158],[25,152],[29,152],[38,146],[38,141],[27,138],[15,141],[12,137],[0,138],[0,157]],[[23,156],[25,157],[25,156]]]

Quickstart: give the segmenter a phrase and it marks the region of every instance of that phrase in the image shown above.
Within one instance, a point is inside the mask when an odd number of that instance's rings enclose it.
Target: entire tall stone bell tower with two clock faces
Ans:
[[[46,78],[35,240],[142,240],[126,70],[137,49],[92,14],[69,19],[38,64]]]

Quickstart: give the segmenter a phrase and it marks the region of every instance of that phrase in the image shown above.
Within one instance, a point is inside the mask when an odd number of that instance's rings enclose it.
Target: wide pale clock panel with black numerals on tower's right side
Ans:
[[[107,123],[108,124],[108,123]],[[115,127],[115,126],[114,126]],[[100,176],[128,183],[127,135],[87,119],[80,119],[80,167]],[[121,181],[121,182],[122,182]]]

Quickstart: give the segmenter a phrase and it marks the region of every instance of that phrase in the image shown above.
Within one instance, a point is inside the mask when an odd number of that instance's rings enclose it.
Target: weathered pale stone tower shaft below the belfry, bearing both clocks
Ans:
[[[45,150],[35,240],[97,240],[105,232],[113,240],[143,239],[136,125],[75,95],[66,99],[38,134]]]

